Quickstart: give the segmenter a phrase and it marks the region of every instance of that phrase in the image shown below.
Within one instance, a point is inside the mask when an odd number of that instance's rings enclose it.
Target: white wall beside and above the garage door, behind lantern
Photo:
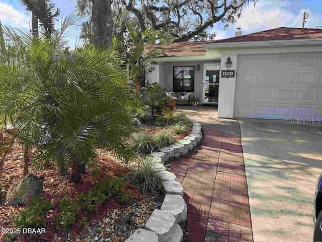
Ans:
[[[254,48],[254,49],[207,49],[213,56],[221,56],[220,70],[226,70],[225,62],[230,56],[232,66],[231,70],[236,70],[237,57],[244,54],[271,54],[271,53],[300,53],[300,52],[320,52],[322,47],[283,47],[283,48]],[[234,111],[234,99],[236,89],[236,72],[235,78],[219,79],[219,97],[218,97],[218,117],[232,118]]]

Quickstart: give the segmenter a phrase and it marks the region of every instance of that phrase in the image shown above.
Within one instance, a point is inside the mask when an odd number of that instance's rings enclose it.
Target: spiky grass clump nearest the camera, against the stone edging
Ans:
[[[141,160],[140,167],[128,175],[130,182],[144,195],[162,192],[162,178],[155,170],[155,163],[149,157],[146,160]]]

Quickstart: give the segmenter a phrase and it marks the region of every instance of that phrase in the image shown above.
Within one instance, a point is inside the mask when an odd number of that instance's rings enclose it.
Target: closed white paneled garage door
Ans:
[[[235,117],[322,121],[322,53],[239,55]]]

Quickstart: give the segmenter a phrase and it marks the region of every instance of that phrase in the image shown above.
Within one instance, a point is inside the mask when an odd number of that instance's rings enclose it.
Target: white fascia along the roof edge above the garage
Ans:
[[[242,41],[242,42],[227,42],[227,43],[209,43],[203,44],[204,48],[267,48],[267,47],[291,47],[305,45],[322,45],[322,38],[308,39],[285,39],[285,40],[259,40],[259,41]]]

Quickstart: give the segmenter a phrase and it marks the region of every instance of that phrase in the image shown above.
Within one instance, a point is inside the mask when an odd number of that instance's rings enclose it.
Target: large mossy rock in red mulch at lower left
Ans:
[[[27,203],[26,197],[39,197],[42,192],[42,182],[32,174],[26,175],[22,180],[11,185],[6,197],[6,205],[23,205]]]

